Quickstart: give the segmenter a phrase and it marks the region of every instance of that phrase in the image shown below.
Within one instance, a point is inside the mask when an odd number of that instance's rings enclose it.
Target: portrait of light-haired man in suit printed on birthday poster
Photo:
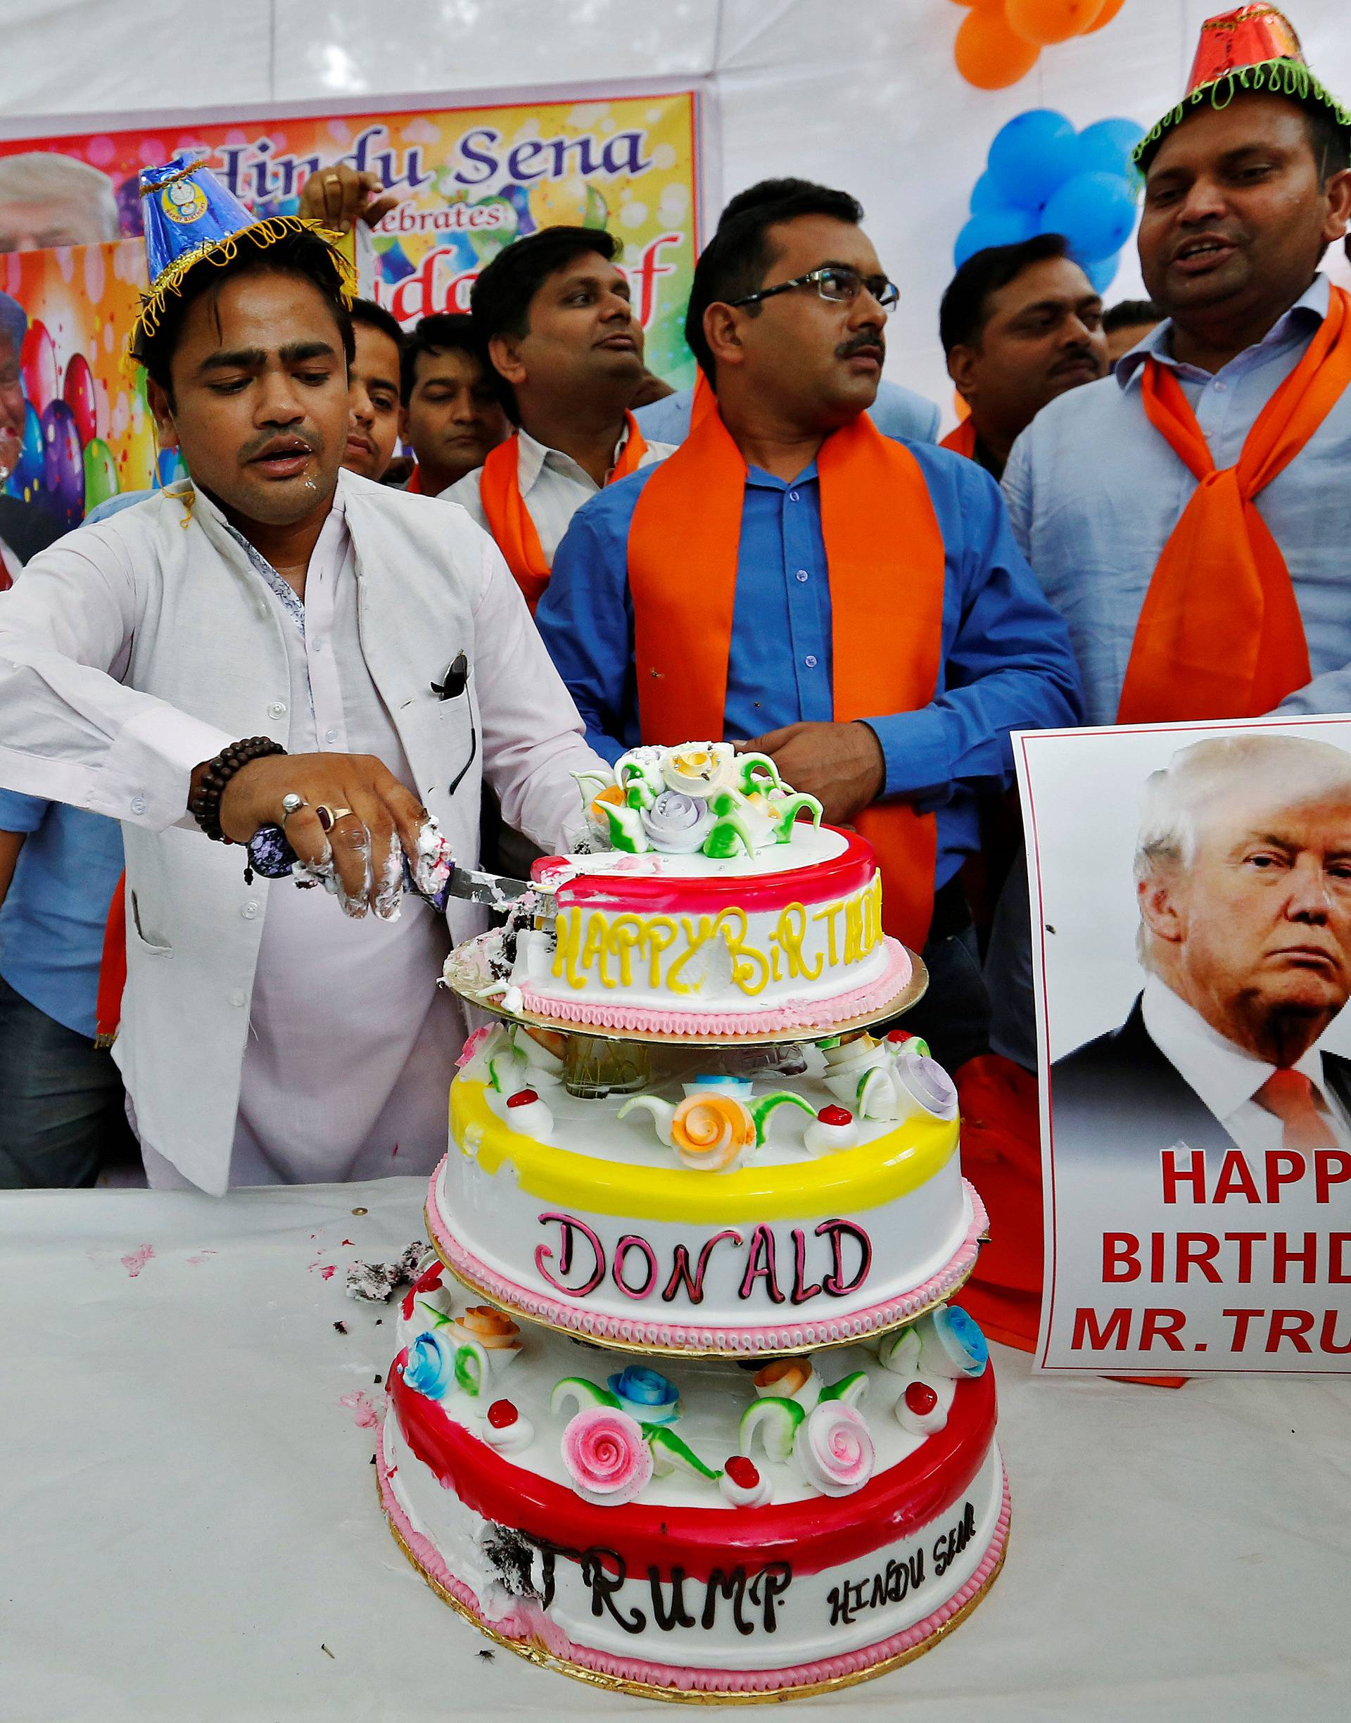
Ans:
[[[1351,755],[1298,736],[1192,743],[1146,782],[1144,987],[1051,1067],[1056,1158],[1120,1168],[1179,1142],[1351,1148]]]

